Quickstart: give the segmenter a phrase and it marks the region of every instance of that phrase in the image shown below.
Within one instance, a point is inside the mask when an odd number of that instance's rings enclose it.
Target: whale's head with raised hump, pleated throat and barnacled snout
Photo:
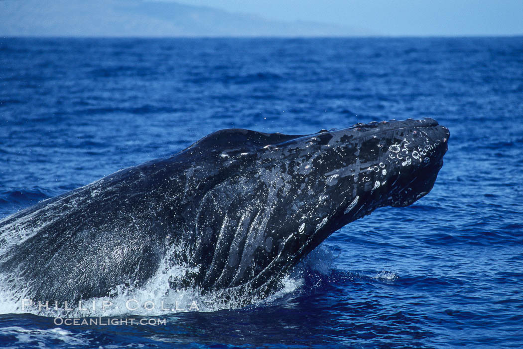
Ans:
[[[188,182],[205,193],[187,226],[198,285],[267,294],[345,224],[426,195],[448,138],[433,119],[409,119],[306,135],[229,129],[191,145],[176,158],[199,164]]]

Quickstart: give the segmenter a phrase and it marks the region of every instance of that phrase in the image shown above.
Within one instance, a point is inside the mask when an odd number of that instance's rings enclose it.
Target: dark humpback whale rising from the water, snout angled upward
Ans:
[[[140,287],[167,256],[189,266],[173,289],[265,297],[345,224],[426,195],[448,138],[433,119],[217,131],[4,218],[0,274],[25,298],[75,302]]]

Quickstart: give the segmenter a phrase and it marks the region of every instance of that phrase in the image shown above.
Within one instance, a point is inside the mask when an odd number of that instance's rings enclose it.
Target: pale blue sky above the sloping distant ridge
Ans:
[[[168,0],[167,0],[168,1]],[[176,0],[267,19],[310,20],[378,35],[522,35],[523,0]]]

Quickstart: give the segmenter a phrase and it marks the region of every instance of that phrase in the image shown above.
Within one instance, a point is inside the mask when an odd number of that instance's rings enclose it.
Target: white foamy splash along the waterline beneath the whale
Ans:
[[[198,287],[174,290],[173,281],[195,272],[177,258],[183,246],[174,246],[164,257],[155,275],[141,287],[119,285],[107,297],[95,297],[74,304],[39,303],[29,301],[29,288],[11,275],[0,275],[0,313],[33,313],[48,317],[118,317],[165,316],[167,314],[223,309],[238,309],[245,305],[264,305],[299,291],[304,284],[304,271],[327,274],[332,268],[334,255],[325,246],[311,252],[294,267],[280,283],[277,291],[266,298],[251,294],[215,291],[203,292]],[[132,283],[130,283],[132,284]],[[13,286],[17,285],[17,286]],[[24,286],[26,285],[26,286]]]

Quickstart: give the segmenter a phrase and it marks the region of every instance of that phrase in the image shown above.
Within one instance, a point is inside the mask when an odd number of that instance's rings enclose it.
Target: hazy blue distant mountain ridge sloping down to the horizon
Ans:
[[[300,37],[368,36],[366,30],[285,22],[166,1],[2,0],[0,36]]]

